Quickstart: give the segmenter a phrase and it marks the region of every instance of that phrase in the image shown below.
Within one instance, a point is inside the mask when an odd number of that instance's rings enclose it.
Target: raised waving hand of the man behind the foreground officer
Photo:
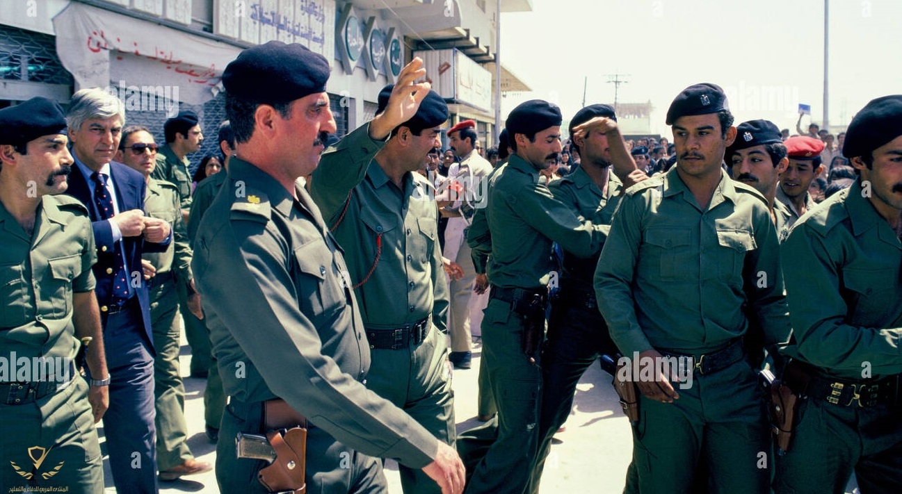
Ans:
[[[404,66],[404,69],[400,70],[398,82],[391,90],[388,104],[385,105],[382,113],[377,114],[370,122],[370,137],[382,141],[395,127],[407,122],[414,114],[417,114],[420,102],[432,88],[428,82],[414,84],[417,79],[425,75],[426,69],[423,69],[423,60],[419,57],[412,59],[409,64]]]

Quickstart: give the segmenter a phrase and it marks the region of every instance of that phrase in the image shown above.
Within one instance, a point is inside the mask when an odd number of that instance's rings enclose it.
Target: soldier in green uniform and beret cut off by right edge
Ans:
[[[781,246],[795,332],[783,381],[800,396],[775,490],[842,493],[902,485],[902,96],[849,124],[860,174],[811,210]]]

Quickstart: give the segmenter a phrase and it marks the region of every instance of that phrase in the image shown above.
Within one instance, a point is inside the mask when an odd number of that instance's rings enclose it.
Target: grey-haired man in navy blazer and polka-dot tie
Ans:
[[[102,89],[82,89],[72,96],[66,121],[75,158],[67,193],[87,206],[97,245],[95,292],[110,374],[104,434],[113,481],[118,492],[156,492],[154,352],[141,254],[165,251],[171,228],[144,215],[143,176],[113,161],[125,123],[122,102]]]

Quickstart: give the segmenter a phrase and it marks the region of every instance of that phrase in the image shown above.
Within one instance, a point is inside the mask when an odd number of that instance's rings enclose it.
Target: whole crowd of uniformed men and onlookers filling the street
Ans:
[[[734,125],[697,84],[672,143],[602,104],[563,142],[530,100],[483,150],[425,72],[334,142],[327,60],[244,50],[193,176],[197,114],[158,143],[99,88],[0,110],[3,486],[102,491],[101,420],[118,492],[213,468],[187,444],[182,326],[224,493],[384,492],[382,458],[407,494],[537,493],[600,359],[625,492],[902,485],[902,96],[834,140]],[[457,434],[474,327],[482,424]]]

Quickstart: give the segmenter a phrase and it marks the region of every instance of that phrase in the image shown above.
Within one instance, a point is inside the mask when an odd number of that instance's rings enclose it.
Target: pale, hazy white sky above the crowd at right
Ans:
[[[830,0],[831,128],[902,94],[899,19],[899,0]],[[699,82],[727,91],[736,123],[767,118],[795,133],[799,103],[823,123],[824,0],[533,0],[532,12],[502,14],[501,55],[533,89],[502,98],[502,120],[532,98],[569,120],[584,77],[586,105],[612,104],[607,75],[621,74],[618,101],[650,99],[651,130],[667,137],[667,107]]]

